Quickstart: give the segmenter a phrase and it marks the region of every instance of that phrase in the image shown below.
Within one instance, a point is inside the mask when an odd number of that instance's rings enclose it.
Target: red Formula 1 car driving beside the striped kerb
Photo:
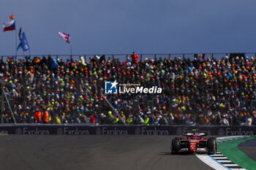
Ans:
[[[175,138],[172,140],[171,152],[206,152],[214,155],[217,152],[217,139],[209,138],[208,133],[186,132],[184,137]]]

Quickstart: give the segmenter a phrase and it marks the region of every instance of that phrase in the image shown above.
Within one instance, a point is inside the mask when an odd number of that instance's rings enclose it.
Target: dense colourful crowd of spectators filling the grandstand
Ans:
[[[0,78],[17,123],[256,125],[256,60],[94,56],[0,61]],[[161,94],[105,95],[105,81],[162,88]],[[101,93],[102,92],[102,93]],[[149,103],[155,98],[156,102]],[[4,107],[1,120],[13,123]],[[123,121],[122,121],[123,120]]]

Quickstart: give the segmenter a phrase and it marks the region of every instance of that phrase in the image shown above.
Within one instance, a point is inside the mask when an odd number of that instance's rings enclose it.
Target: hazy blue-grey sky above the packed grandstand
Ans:
[[[1,1],[0,23],[14,14],[32,55],[70,54],[59,31],[70,34],[73,54],[253,53],[255,6],[254,0],[11,0]],[[13,55],[15,31],[2,30],[0,55]]]

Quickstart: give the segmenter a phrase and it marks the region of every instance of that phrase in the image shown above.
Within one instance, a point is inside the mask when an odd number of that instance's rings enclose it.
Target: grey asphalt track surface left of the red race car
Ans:
[[[0,136],[0,169],[211,169],[171,155],[173,136]]]

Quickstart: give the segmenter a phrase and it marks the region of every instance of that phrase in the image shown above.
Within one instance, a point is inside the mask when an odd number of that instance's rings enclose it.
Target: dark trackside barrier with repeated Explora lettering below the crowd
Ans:
[[[187,125],[88,125],[88,124],[1,124],[0,132],[6,134],[59,134],[59,135],[180,135],[197,128],[211,135],[252,136],[256,126],[187,126]]]

